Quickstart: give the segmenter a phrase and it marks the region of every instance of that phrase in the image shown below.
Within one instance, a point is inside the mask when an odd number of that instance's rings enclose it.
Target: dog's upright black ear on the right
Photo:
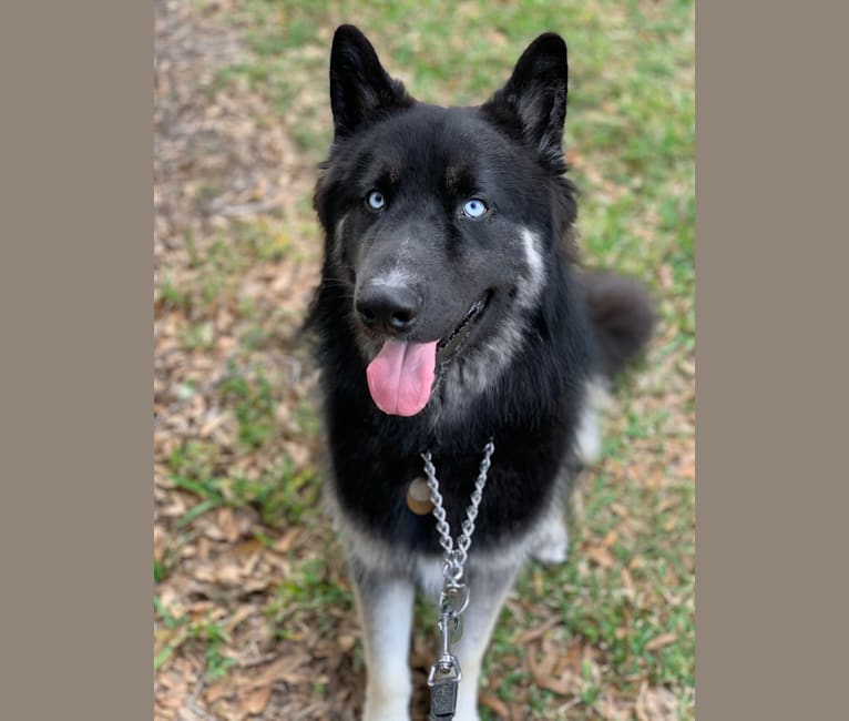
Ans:
[[[510,80],[481,110],[539,149],[544,160],[560,164],[567,83],[566,43],[560,35],[546,32],[528,47]]]

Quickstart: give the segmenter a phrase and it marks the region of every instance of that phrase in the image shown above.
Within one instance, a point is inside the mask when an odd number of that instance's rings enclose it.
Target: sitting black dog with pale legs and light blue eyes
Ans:
[[[456,535],[491,439],[452,648],[454,718],[470,721],[518,572],[565,559],[564,504],[600,447],[600,394],[648,339],[652,304],[634,281],[580,266],[561,37],[534,40],[474,108],[415,100],[352,26],[334,35],[329,75],[334,140],[314,195],[325,254],[306,327],[325,496],[364,631],[364,718],[409,718],[413,595],[444,589],[437,521],[409,502],[422,455]]]

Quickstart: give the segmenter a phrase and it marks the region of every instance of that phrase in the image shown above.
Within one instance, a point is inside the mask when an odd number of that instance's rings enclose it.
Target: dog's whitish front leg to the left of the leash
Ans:
[[[368,673],[364,721],[403,721],[412,690],[408,656],[415,587],[356,563],[351,568]]]

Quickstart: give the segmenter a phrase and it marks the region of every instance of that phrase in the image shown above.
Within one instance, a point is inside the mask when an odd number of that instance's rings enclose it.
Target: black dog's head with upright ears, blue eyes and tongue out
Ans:
[[[574,215],[566,47],[525,50],[478,108],[413,100],[351,26],[330,58],[334,143],[315,205],[375,404],[412,416],[483,389],[522,343]],[[453,387],[453,390],[451,388]]]

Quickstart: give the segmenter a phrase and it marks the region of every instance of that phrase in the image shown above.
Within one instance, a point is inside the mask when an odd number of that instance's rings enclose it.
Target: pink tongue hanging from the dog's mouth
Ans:
[[[366,369],[371,399],[383,413],[415,416],[428,405],[436,366],[436,341],[387,341]]]

